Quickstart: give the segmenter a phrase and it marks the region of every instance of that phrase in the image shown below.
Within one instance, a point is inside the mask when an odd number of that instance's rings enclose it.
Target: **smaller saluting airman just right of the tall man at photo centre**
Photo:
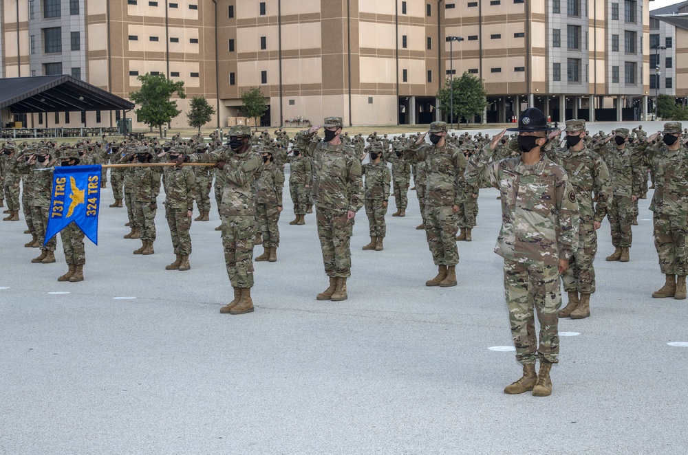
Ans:
[[[389,186],[391,185],[391,173],[386,164],[381,162],[383,145],[380,143],[370,146],[368,157],[370,162],[361,166],[365,188],[365,214],[368,217],[370,243],[363,247],[364,250],[384,249],[383,239],[387,234],[385,214],[389,201]]]

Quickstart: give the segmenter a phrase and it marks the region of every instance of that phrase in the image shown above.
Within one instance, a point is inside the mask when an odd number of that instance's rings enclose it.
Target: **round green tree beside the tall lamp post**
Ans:
[[[468,124],[475,115],[482,115],[488,104],[484,80],[466,71],[460,78],[447,78],[444,87],[437,94],[440,100],[440,109],[447,114],[447,118],[451,116],[452,84],[454,86],[454,118],[449,119],[449,122],[454,123],[455,120],[464,118]]]

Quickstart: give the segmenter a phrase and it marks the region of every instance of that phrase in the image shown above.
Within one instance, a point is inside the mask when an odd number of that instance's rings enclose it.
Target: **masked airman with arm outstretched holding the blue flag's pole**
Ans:
[[[222,192],[222,245],[234,300],[220,313],[244,314],[254,311],[253,246],[256,234],[255,181],[263,170],[263,160],[250,148],[250,126],[233,126],[228,146],[213,153],[191,155],[190,162],[216,163],[225,179]]]

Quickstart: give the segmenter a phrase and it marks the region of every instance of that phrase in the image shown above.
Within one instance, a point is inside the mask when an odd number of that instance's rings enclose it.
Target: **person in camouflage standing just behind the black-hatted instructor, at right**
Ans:
[[[566,120],[566,147],[550,153],[550,159],[568,173],[576,192],[579,209],[578,249],[568,269],[561,275],[568,304],[559,311],[559,318],[583,319],[590,316],[590,294],[595,292],[597,230],[607,214],[612,199],[612,181],[607,165],[583,141],[585,120]],[[593,203],[592,194],[597,195]],[[579,296],[580,294],[580,296]]]

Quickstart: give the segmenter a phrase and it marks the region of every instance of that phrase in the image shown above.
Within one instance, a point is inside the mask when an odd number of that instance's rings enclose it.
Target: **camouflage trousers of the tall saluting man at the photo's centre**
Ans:
[[[354,220],[346,219],[347,212],[316,208],[318,236],[323,250],[325,273],[332,278],[351,276],[351,236]]]

